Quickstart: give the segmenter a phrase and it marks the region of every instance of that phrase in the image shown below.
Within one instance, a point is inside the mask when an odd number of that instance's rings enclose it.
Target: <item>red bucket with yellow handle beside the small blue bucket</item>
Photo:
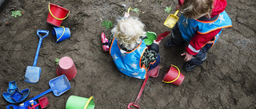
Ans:
[[[69,10],[66,10],[62,6],[57,6],[52,3],[49,4],[48,9],[49,14],[46,22],[58,27],[62,25],[62,21],[66,19],[70,14]]]

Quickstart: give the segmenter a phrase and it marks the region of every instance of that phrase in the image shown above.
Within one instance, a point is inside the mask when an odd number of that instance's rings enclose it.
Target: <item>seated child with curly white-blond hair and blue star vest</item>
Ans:
[[[105,52],[110,51],[114,64],[126,76],[145,79],[146,72],[160,63],[159,42],[154,41],[147,47],[144,24],[125,14],[111,30],[110,41],[102,33],[102,45]]]

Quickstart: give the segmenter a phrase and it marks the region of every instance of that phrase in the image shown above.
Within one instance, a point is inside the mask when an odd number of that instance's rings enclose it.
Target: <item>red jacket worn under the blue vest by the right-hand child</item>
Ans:
[[[178,0],[178,4],[182,6],[184,0]],[[214,0],[214,9],[212,10],[211,18],[214,16],[222,13],[226,8],[226,0]],[[221,29],[216,29],[211,31],[210,33],[206,34],[200,34],[200,33],[195,33],[194,37],[190,40],[190,45],[195,49],[195,50],[200,50],[208,41],[214,38],[217,33],[219,33]],[[194,53],[188,46],[186,47],[186,52],[190,53],[191,55],[196,55],[197,53]]]

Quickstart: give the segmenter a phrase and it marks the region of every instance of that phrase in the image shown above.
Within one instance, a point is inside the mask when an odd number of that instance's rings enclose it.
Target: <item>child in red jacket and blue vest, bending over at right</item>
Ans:
[[[166,46],[188,42],[185,56],[185,71],[191,71],[206,60],[206,52],[218,40],[223,28],[231,27],[226,14],[226,0],[179,0],[177,10],[182,16],[171,32]]]

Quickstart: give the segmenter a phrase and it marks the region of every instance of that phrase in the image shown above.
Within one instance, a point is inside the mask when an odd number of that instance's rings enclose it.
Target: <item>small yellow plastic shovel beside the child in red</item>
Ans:
[[[176,10],[175,14],[170,14],[167,18],[166,21],[163,23],[163,25],[166,25],[169,28],[173,28],[176,22],[178,21],[178,10]]]

